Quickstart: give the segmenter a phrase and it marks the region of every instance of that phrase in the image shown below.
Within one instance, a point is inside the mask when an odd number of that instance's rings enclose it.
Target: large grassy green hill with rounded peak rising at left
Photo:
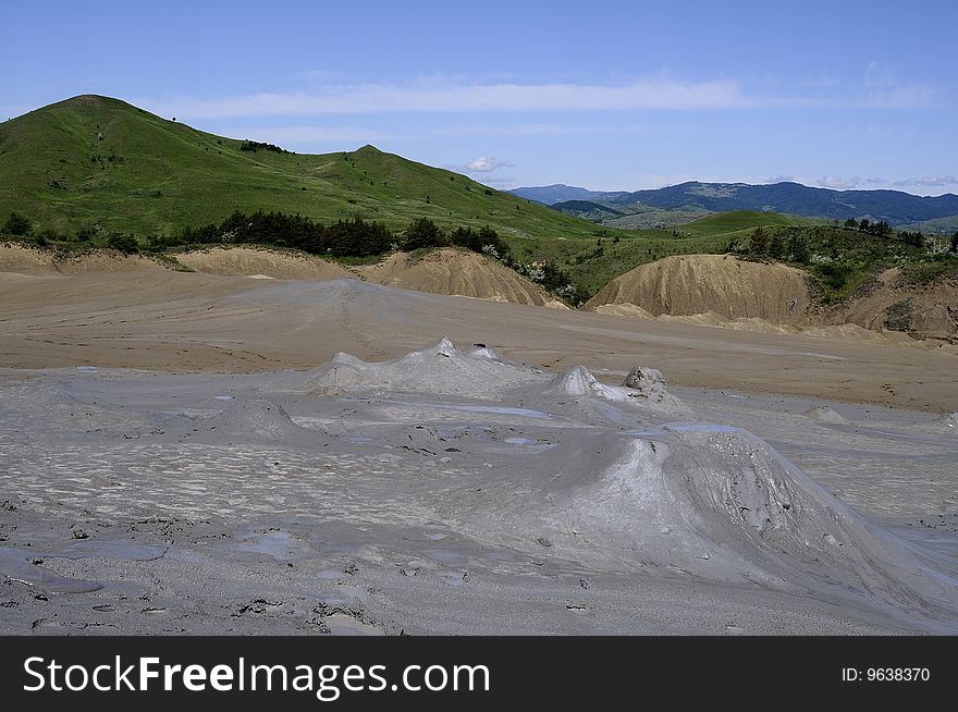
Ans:
[[[118,99],[67,99],[0,124],[0,217],[15,210],[38,229],[99,225],[140,237],[257,209],[324,222],[356,214],[394,230],[429,217],[489,224],[507,237],[594,233],[588,222],[372,146],[314,156],[243,145]]]

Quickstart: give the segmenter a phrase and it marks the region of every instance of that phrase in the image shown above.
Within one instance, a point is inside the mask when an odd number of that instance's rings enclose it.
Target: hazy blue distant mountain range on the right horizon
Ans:
[[[643,206],[664,210],[712,212],[757,210],[839,220],[868,218],[892,225],[958,218],[958,195],[950,193],[922,197],[901,191],[831,191],[799,183],[749,185],[692,181],[634,193],[587,191],[560,184],[515,188],[511,193],[557,207],[564,212],[569,212],[568,206],[555,204],[580,200],[626,210]]]

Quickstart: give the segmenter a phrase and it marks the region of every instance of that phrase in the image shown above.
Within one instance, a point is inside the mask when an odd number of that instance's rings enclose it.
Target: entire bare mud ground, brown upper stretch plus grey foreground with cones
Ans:
[[[126,279],[0,283],[2,633],[958,633],[947,349]]]

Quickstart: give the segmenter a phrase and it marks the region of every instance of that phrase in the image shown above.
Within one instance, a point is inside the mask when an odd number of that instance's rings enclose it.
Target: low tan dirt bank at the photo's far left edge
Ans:
[[[0,272],[51,275],[159,269],[163,268],[151,259],[139,255],[122,255],[112,249],[63,253],[13,243],[0,244]]]

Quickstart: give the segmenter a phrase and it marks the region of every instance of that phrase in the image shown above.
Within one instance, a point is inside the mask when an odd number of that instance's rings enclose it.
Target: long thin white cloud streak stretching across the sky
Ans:
[[[867,72],[874,74],[877,69]],[[934,87],[900,85],[871,77],[857,91],[828,97],[760,96],[729,79],[681,82],[666,75],[623,84],[512,82],[468,83],[459,77],[421,77],[400,84],[326,83],[311,90],[259,93],[197,99],[146,97],[133,102],[182,121],[255,116],[383,113],[564,113],[623,111],[697,111],[751,108],[914,109],[933,106]],[[531,126],[535,128],[535,126]],[[541,130],[542,126],[539,126]]]

